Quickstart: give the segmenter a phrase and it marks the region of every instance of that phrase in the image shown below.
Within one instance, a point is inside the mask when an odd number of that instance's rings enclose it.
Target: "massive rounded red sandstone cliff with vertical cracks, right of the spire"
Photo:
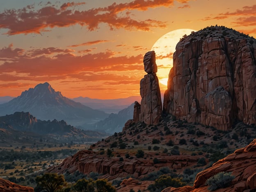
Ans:
[[[164,112],[189,122],[231,128],[256,123],[256,40],[226,27],[181,39],[173,55]]]

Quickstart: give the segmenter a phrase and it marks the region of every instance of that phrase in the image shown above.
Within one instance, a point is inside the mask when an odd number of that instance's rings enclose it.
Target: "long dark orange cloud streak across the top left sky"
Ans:
[[[190,0],[177,0],[186,3]],[[31,7],[23,9],[7,9],[0,13],[0,29],[7,29],[7,34],[39,34],[48,31],[53,27],[69,27],[71,25],[86,26],[93,31],[100,23],[106,23],[111,30],[124,28],[126,30],[149,31],[151,27],[167,27],[166,22],[147,19],[139,21],[130,17],[127,10],[146,11],[150,8],[172,6],[174,0],[134,0],[129,3],[113,3],[108,7],[100,7],[80,11],[75,6],[84,3],[64,3],[59,8],[56,6],[42,7],[39,10],[32,10]],[[73,8],[73,9],[71,9]],[[126,16],[119,13],[126,11]]]

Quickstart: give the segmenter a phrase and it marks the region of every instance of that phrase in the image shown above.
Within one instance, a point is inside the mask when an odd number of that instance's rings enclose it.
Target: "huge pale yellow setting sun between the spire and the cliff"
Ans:
[[[164,85],[162,88],[166,88],[168,81],[168,74],[173,66],[172,55],[175,52],[175,47],[180,38],[184,34],[189,35],[192,29],[178,29],[160,37],[153,45],[151,50],[155,50],[156,64],[158,65],[158,78],[160,84]],[[161,87],[161,85],[160,85]]]

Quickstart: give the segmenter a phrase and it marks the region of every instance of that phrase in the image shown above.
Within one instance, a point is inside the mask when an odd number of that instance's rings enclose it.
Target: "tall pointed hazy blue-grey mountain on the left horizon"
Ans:
[[[48,82],[23,91],[11,101],[0,105],[0,115],[28,111],[38,119],[62,120],[79,125],[95,122],[108,116],[105,112],[93,110],[55,91]]]

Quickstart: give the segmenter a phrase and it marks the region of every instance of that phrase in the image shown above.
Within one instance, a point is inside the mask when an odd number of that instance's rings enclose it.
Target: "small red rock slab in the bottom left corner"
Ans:
[[[25,187],[12,183],[11,181],[0,178],[0,191],[1,192],[34,192],[32,187]]]

